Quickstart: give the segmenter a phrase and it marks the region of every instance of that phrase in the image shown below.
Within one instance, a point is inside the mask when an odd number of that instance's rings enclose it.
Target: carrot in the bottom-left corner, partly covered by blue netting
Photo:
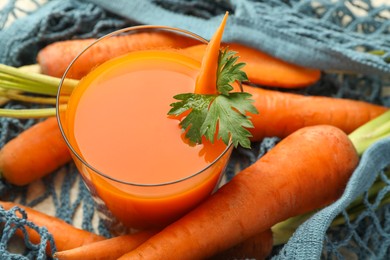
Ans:
[[[56,248],[59,251],[80,247],[82,245],[105,239],[103,236],[78,229],[59,218],[46,215],[30,207],[4,201],[0,201],[0,206],[2,206],[5,210],[10,210],[16,206],[25,210],[27,213],[27,220],[33,222],[39,227],[46,227],[49,233],[52,234]],[[16,234],[23,237],[21,230],[18,231],[19,232]],[[38,244],[40,242],[40,235],[34,229],[26,227],[26,231],[32,243]],[[49,245],[47,247],[47,252],[50,252]]]

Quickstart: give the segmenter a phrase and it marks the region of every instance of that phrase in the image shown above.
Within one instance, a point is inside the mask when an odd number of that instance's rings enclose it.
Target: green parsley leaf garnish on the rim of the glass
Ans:
[[[190,111],[180,126],[194,143],[201,143],[204,136],[212,143],[217,138],[225,144],[231,140],[235,147],[250,148],[249,138],[252,135],[247,128],[252,128],[253,124],[246,113],[258,112],[252,104],[251,94],[232,92],[234,82],[240,84],[242,90],[241,82],[248,80],[242,71],[245,63],[237,63],[235,55],[236,52],[227,48],[219,52],[217,94],[184,93],[174,96],[179,101],[171,104],[168,114],[178,116]]]

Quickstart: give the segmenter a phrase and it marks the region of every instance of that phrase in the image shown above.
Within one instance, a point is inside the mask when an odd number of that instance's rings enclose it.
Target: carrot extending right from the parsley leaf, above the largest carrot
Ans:
[[[251,114],[252,141],[286,137],[305,126],[328,124],[347,134],[383,114],[387,107],[350,99],[304,96],[245,85],[259,114]]]

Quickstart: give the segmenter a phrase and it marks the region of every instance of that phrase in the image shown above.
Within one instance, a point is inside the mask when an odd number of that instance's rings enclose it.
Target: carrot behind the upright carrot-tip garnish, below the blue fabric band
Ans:
[[[312,85],[321,78],[321,71],[301,67],[270,56],[257,49],[239,43],[224,43],[239,56],[238,62],[245,63],[242,70],[250,82],[258,85],[281,88],[300,88]],[[196,60],[201,60],[206,45],[199,44],[183,49]]]

